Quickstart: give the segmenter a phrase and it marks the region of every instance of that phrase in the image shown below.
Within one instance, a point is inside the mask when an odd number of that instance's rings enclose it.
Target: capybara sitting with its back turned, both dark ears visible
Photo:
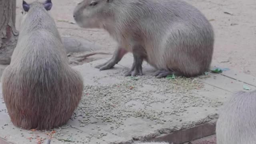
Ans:
[[[51,0],[23,1],[18,43],[2,75],[10,119],[24,129],[65,124],[82,96],[82,77],[68,65],[56,24],[47,12],[51,7]]]

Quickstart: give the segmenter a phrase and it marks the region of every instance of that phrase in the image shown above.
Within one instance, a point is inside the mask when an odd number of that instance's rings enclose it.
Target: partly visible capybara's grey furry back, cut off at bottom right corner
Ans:
[[[237,92],[220,109],[217,144],[256,144],[256,90]]]

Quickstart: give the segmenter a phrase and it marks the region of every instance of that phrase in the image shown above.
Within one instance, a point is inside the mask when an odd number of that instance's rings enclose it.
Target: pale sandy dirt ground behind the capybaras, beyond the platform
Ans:
[[[27,0],[31,2],[33,0]],[[42,1],[42,0],[40,0]],[[116,43],[107,32],[79,28],[72,12],[81,0],[52,0],[52,16],[62,36],[79,36],[103,50],[113,52]],[[213,62],[227,68],[256,76],[256,1],[255,0],[185,0],[201,10],[215,31]],[[22,0],[17,0],[17,29]],[[107,55],[110,57],[111,55]],[[101,55],[100,57],[106,57]]]

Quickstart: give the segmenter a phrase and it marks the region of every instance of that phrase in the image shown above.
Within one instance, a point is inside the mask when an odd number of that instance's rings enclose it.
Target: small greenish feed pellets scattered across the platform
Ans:
[[[124,122],[131,117],[151,120],[154,124],[166,124],[174,120],[166,120],[165,116],[182,116],[190,107],[218,107],[221,105],[220,102],[213,102],[209,98],[202,98],[194,94],[195,90],[204,88],[204,84],[198,79],[208,76],[157,79],[148,75],[124,77],[123,73],[124,70],[110,74],[110,77],[121,80],[117,84],[85,85],[84,96],[71,119],[77,119],[80,127],[98,122],[104,123],[109,125],[111,131],[120,129]],[[100,81],[101,78],[95,77],[94,82]],[[180,118],[176,120],[182,122]],[[150,125],[150,127],[154,128],[154,125]],[[104,139],[103,137],[107,133],[101,132],[102,130],[101,126],[92,128],[92,131],[98,131],[97,134],[85,136],[81,143],[90,143],[92,138]],[[64,138],[61,137],[66,137],[61,134],[60,129],[56,129],[56,134],[53,136],[62,141]],[[69,140],[70,138],[65,138],[65,141]]]

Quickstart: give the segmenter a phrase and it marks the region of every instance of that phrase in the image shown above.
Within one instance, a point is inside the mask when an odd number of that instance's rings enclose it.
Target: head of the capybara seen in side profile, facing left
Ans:
[[[112,0],[83,0],[74,9],[74,20],[82,28],[102,28],[108,19]]]

